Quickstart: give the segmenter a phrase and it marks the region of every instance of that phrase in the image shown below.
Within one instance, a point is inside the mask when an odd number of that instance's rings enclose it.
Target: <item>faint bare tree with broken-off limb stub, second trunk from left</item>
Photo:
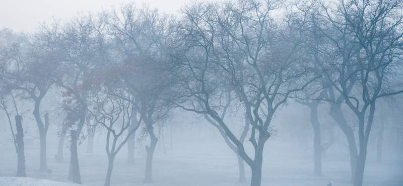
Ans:
[[[32,114],[35,117],[40,135],[40,168],[46,166],[46,133],[49,123],[42,121],[40,103],[58,76],[60,53],[54,45],[47,43],[48,35],[38,33],[31,38],[26,37],[18,44],[10,47],[4,55],[2,78],[9,82],[8,89],[18,90],[24,99],[34,102]]]

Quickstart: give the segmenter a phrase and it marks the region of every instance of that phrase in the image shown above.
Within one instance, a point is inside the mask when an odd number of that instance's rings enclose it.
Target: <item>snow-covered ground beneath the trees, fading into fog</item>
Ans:
[[[103,136],[94,140],[94,152],[86,153],[87,142],[78,148],[80,173],[83,185],[103,185],[107,170],[107,156]],[[35,142],[25,146],[26,172],[24,180],[14,178],[17,171],[17,154],[12,143],[0,146],[0,185],[46,185],[73,186],[66,181],[69,171],[70,151],[64,148],[64,163],[57,163],[54,155],[57,152],[56,136],[49,135],[47,143],[47,168],[51,174],[39,172],[39,144]],[[248,143],[245,141],[245,143]],[[118,153],[111,178],[111,185],[248,185],[250,184],[250,168],[245,163],[248,183],[238,183],[238,164],[232,152],[221,136],[176,137],[173,149],[170,150],[169,139],[165,139],[167,153],[162,145],[157,145],[153,160],[153,183],[143,184],[145,157],[137,147],[136,164],[126,163],[127,148],[124,146]],[[250,148],[250,147],[248,147]],[[333,145],[322,160],[323,177],[313,176],[313,149],[298,149],[297,144],[283,143],[278,139],[269,140],[264,147],[262,168],[262,185],[271,186],[324,186],[330,181],[333,186],[352,185],[350,180],[349,154],[346,148]],[[363,185],[401,186],[403,185],[403,154],[384,152],[383,162],[376,162],[376,153],[368,151]],[[41,179],[41,180],[39,180]],[[46,180],[48,179],[48,180]],[[49,181],[52,180],[52,181]],[[42,181],[42,182],[41,182]],[[57,181],[57,182],[55,182]]]

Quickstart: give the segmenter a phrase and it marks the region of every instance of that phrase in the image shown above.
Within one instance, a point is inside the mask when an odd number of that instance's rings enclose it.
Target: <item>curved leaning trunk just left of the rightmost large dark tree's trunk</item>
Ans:
[[[350,182],[352,183],[354,181],[356,174],[357,157],[358,157],[358,150],[353,129],[348,125],[343,115],[342,104],[330,103],[329,115],[334,119],[334,121],[337,122],[337,124],[340,126],[343,133],[347,137],[347,142],[349,143],[349,150],[350,150],[350,165],[351,165]]]

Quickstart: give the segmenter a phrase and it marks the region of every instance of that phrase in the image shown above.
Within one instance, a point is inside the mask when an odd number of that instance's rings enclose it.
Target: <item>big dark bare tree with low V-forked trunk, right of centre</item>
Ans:
[[[303,20],[288,17],[280,24],[272,19],[271,12],[280,5],[278,1],[192,4],[182,10],[174,41],[177,53],[172,57],[181,92],[177,106],[208,114],[222,127],[251,167],[251,185],[260,185],[263,146],[271,136],[276,110],[320,76],[310,71],[310,60],[298,55],[307,39]],[[218,99],[224,84],[246,110],[253,159],[220,117]]]

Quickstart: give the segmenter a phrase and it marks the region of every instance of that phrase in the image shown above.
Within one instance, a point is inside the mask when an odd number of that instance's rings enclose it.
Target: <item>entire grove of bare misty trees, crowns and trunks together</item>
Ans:
[[[214,126],[237,155],[239,182],[259,186],[265,144],[281,133],[273,119],[296,101],[310,110],[312,173],[323,176],[323,153],[334,142],[333,121],[318,120],[323,106],[347,139],[351,182],[362,186],[377,103],[396,101],[403,92],[402,8],[400,0],[238,0],[193,2],[173,16],[128,3],[55,20],[33,34],[3,29],[0,109],[18,154],[17,176],[26,176],[21,117],[28,115],[39,130],[39,170],[48,170],[47,131],[59,124],[49,121],[42,101],[52,96],[61,100],[63,121],[55,158],[64,161],[67,137],[71,162],[65,176],[75,183],[82,182],[79,154],[84,153],[77,145],[87,138],[92,152],[100,130],[106,133],[105,186],[123,145],[128,145],[127,162],[135,163],[136,139],[146,137],[143,182],[153,182],[159,136],[163,139],[163,127],[175,120],[170,110],[180,110]],[[33,110],[19,112],[22,103]],[[231,117],[242,120],[240,131]],[[376,129],[378,161],[385,126]],[[251,175],[245,176],[244,162]]]

